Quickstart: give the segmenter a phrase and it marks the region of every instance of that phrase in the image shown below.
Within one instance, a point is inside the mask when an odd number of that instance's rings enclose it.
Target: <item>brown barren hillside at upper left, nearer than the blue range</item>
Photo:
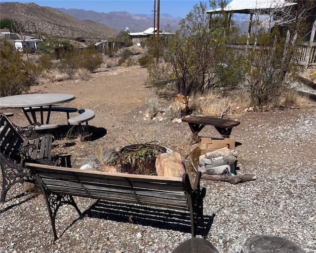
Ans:
[[[56,8],[42,7],[35,3],[1,2],[1,19],[9,18],[21,22],[25,29],[35,24],[38,36],[61,38],[108,39],[118,31],[91,20],[79,20]]]

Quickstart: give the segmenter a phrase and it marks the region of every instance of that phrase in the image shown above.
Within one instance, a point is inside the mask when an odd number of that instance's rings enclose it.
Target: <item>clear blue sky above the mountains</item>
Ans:
[[[160,14],[185,18],[199,2],[208,0],[160,0]],[[65,9],[84,9],[108,13],[111,11],[127,11],[131,14],[152,14],[155,0],[0,0],[0,2],[34,2],[40,6]],[[156,0],[157,10],[158,0]],[[208,8],[207,8],[208,9]]]

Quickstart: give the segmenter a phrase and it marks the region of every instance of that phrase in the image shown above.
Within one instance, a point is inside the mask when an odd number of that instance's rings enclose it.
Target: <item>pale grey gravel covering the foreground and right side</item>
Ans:
[[[245,115],[234,132],[242,143],[237,147],[237,173],[256,174],[257,180],[237,185],[201,181],[207,189],[204,214],[215,214],[207,239],[221,253],[237,253],[247,238],[269,234],[315,253],[316,110],[264,114],[256,121],[252,121],[253,115]],[[272,119],[273,126],[269,123]],[[0,252],[162,253],[171,252],[191,237],[188,231],[168,229],[172,224],[162,228],[129,224],[106,219],[108,214],[94,218],[87,214],[76,220],[73,208],[62,207],[57,231],[63,234],[52,243],[43,197],[35,189],[32,192],[35,197],[27,194],[0,205]],[[86,199],[78,202],[81,210],[93,204]]]

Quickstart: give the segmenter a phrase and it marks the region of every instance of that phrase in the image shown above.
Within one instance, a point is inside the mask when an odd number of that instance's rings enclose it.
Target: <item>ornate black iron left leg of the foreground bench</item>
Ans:
[[[44,194],[44,198],[46,201],[53,233],[54,233],[54,241],[58,239],[57,233],[56,233],[56,227],[55,227],[55,219],[58,209],[63,205],[72,205],[76,211],[79,213],[80,218],[83,217],[83,214],[79,210],[77,204],[75,203],[74,198],[71,195],[62,195],[62,194],[52,194],[46,190],[46,187],[44,183],[40,180],[39,177],[38,181],[40,182],[40,189],[42,190]]]

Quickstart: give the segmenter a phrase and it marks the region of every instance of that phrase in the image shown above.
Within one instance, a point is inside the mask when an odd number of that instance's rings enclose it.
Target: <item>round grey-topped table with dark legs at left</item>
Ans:
[[[15,95],[15,96],[7,96],[7,97],[0,97],[0,107],[15,107],[21,108],[30,122],[37,122],[35,111],[32,111],[32,107],[43,107],[48,106],[49,109],[47,110],[47,119],[46,124],[49,123],[50,117],[50,108],[52,105],[65,103],[75,99],[75,95],[72,94],[62,94],[62,93],[34,93],[34,94],[23,94],[23,95]],[[30,119],[29,115],[25,111],[25,108],[29,107],[31,111],[33,122]],[[42,113],[41,113],[41,124],[43,124]]]

